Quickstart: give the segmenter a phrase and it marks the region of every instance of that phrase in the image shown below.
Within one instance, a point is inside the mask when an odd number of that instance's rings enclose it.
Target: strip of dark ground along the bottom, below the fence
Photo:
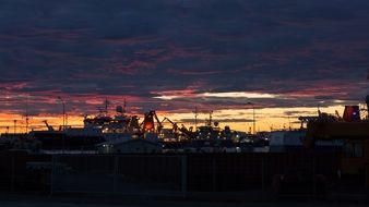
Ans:
[[[312,200],[293,198],[288,200],[204,200],[195,198],[148,198],[148,197],[111,197],[111,196],[35,196],[35,195],[0,195],[0,207],[305,207],[305,206],[368,206],[367,200],[352,197],[349,199]]]

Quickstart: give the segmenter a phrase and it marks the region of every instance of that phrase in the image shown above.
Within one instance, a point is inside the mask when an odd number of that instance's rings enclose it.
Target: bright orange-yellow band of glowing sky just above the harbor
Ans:
[[[320,108],[322,112],[334,114],[335,110],[343,112],[344,106],[337,105],[332,107]],[[286,112],[294,111],[294,114],[287,115]],[[298,129],[299,115],[317,115],[317,108],[308,107],[296,107],[296,108],[264,108],[255,109],[257,131],[271,131],[271,130],[283,130],[283,129]],[[143,114],[138,114],[143,121]],[[169,118],[171,121],[178,124],[184,124],[187,127],[194,126],[194,113],[193,112],[167,112],[157,111],[159,120],[164,117]],[[219,126],[228,125],[231,130],[249,132],[252,127],[252,109],[224,109],[213,111],[213,121],[219,123]],[[73,127],[83,127],[82,115],[68,115],[68,125]],[[198,114],[198,126],[204,125],[205,120],[209,119],[209,113]],[[26,132],[26,118],[20,114],[0,113],[0,133],[14,133],[14,120],[15,132]],[[43,122],[47,120],[49,125],[53,126],[55,130],[59,130],[62,125],[62,115],[44,114],[38,117],[29,117],[28,131],[32,130],[46,130],[46,125]],[[165,123],[165,127],[171,127],[169,123]]]

